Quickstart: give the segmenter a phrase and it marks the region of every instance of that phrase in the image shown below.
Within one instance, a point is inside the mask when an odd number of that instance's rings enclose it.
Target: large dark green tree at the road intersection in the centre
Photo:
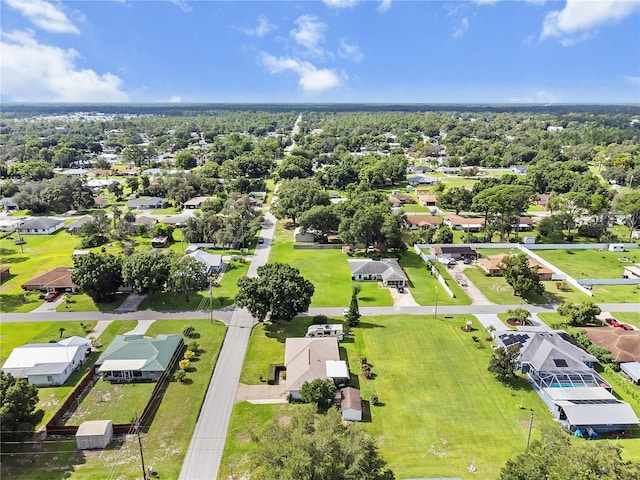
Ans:
[[[315,290],[297,268],[285,263],[268,263],[258,268],[257,277],[238,280],[236,303],[260,321],[271,314],[273,321],[291,320],[306,312]]]

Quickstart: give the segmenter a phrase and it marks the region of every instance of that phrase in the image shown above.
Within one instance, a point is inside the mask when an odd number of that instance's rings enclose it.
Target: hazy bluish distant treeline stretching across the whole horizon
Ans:
[[[220,111],[262,112],[535,112],[638,114],[638,104],[464,104],[464,103],[3,103],[4,118],[65,115],[79,112],[105,114],[194,116]]]

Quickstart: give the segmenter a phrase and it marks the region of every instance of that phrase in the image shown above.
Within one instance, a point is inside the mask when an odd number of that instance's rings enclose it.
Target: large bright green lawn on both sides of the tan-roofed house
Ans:
[[[377,438],[397,478],[496,478],[506,459],[524,450],[531,411],[534,438],[543,424],[552,423],[524,380],[509,388],[487,372],[491,348],[485,335],[460,330],[471,318],[365,317],[340,344],[354,373],[361,355],[372,365],[374,379],[358,380],[371,409],[362,426]],[[248,383],[256,383],[257,363],[268,367],[282,361],[284,337],[306,330],[300,320],[283,324],[281,331],[254,330],[243,371]],[[481,328],[475,320],[473,325]],[[372,394],[379,406],[369,407]],[[249,439],[267,419],[286,415],[280,408],[236,405],[222,465],[232,462],[237,474],[243,472]],[[471,463],[477,473],[467,473]],[[225,470],[219,478],[224,475]]]

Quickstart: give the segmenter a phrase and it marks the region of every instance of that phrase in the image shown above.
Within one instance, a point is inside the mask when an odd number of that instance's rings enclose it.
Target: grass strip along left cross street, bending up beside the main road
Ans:
[[[238,279],[246,275],[249,270],[249,263],[232,260],[230,265],[231,267],[222,276],[220,284],[213,287],[211,291],[214,308],[227,307],[234,302],[238,293]],[[182,292],[153,293],[142,301],[138,310],[197,310],[205,303],[206,306],[203,308],[209,308],[209,301],[209,290],[191,292],[188,302]]]

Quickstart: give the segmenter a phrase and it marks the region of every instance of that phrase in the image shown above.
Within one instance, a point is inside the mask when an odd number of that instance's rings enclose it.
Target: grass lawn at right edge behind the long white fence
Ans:
[[[622,263],[626,257],[640,262],[640,250],[609,252],[608,250],[537,250],[545,260],[563,270],[573,278],[620,278],[623,268],[631,263]]]

